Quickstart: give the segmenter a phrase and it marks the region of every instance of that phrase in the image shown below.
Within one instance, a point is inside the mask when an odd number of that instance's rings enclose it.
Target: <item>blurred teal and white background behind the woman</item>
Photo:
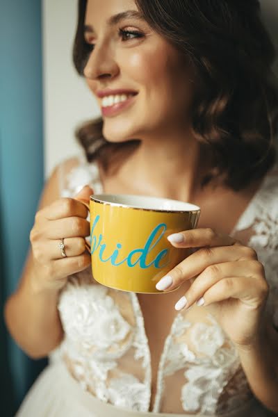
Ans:
[[[261,0],[278,51],[278,0]],[[51,170],[79,147],[74,129],[99,115],[76,75],[77,0],[0,0],[0,404],[15,414],[46,361],[28,359],[3,323],[21,275],[40,193]],[[275,63],[278,76],[278,60]],[[33,416],[30,416],[33,417]],[[35,417],[35,416],[34,416]]]

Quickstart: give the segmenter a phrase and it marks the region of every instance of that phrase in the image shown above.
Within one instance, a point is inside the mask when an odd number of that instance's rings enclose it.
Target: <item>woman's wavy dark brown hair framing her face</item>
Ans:
[[[278,87],[272,65],[275,48],[261,22],[257,0],[135,0],[144,19],[189,60],[197,88],[192,126],[201,150],[211,156],[213,177],[240,190],[263,178],[275,163]],[[83,75],[90,45],[83,35],[87,0],[79,0],[74,65]],[[93,52],[92,52],[93,53]],[[112,144],[102,135],[103,120],[76,131],[88,161],[105,169],[117,152],[138,141]]]

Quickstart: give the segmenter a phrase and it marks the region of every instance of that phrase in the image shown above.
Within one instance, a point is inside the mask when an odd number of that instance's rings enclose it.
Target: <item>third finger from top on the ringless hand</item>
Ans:
[[[192,306],[195,302],[198,303],[197,305],[202,305],[204,294],[217,282],[228,278],[240,278],[244,281],[249,295],[252,291],[256,291],[256,286],[260,286],[261,281],[265,281],[262,265],[258,261],[227,262],[211,265],[193,281],[182,297],[183,301],[179,300],[177,302],[178,306],[185,302],[184,298],[186,298],[186,308]],[[250,279],[252,279],[252,291],[248,288]]]

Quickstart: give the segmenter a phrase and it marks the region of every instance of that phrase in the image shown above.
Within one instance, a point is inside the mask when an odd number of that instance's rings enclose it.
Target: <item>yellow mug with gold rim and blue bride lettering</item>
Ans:
[[[92,275],[100,284],[134,293],[162,293],[156,283],[190,254],[167,236],[195,229],[200,208],[142,195],[91,195]]]

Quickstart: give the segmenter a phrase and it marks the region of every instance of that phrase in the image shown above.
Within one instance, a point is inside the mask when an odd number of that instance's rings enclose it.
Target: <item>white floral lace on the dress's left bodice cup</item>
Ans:
[[[83,388],[97,398],[144,411],[149,397],[146,380],[140,382],[135,376],[117,370],[117,359],[131,347],[135,351],[134,360],[145,358],[138,343],[140,331],[136,332],[140,327],[124,320],[109,295],[110,290],[99,284],[90,284],[90,272],[86,270],[86,274],[87,277],[82,277],[82,284],[80,274],[72,275],[60,295],[58,309],[66,334],[59,348],[60,355]],[[116,292],[120,297],[126,297],[122,292]],[[115,378],[109,377],[113,370],[117,371]]]

